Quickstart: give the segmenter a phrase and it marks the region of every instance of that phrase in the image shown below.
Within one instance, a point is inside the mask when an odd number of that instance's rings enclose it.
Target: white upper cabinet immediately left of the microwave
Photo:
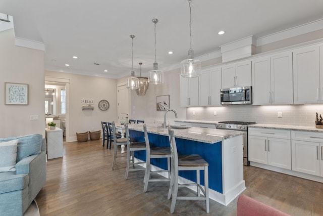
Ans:
[[[221,68],[203,69],[200,74],[200,106],[220,106]]]

